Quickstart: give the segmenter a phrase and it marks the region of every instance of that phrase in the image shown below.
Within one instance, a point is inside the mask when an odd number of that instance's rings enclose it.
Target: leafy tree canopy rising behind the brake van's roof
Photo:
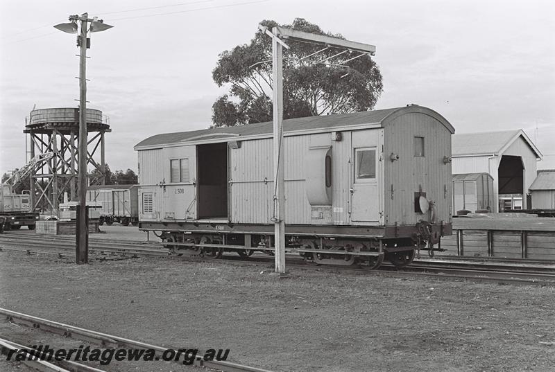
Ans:
[[[325,33],[318,25],[296,18],[293,24],[280,25],[265,20],[260,24],[271,30],[283,26],[345,39],[339,34]],[[347,62],[345,66],[329,66],[321,61],[336,55],[339,48],[320,51],[321,45],[286,41],[291,48],[283,51],[284,118],[299,118],[330,113],[359,112],[373,109],[382,93],[382,74],[370,55]],[[326,63],[338,64],[360,53],[343,53]],[[219,55],[212,78],[216,85],[229,85],[230,90],[212,105],[214,126],[244,125],[272,120],[272,46],[271,38],[258,30],[250,44],[239,45]],[[348,74],[347,74],[348,73]],[[346,75],[346,76],[345,76]]]

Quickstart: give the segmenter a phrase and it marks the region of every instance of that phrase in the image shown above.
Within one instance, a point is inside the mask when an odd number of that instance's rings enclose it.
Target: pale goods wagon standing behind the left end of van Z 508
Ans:
[[[119,222],[123,226],[139,222],[137,185],[89,186],[87,202],[101,205],[99,224]]]

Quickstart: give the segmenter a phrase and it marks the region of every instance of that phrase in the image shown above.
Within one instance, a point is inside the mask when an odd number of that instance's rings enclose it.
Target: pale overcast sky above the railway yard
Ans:
[[[106,160],[137,170],[133,145],[206,128],[225,93],[219,53],[250,41],[262,19],[296,17],[374,44],[384,93],[376,109],[416,103],[456,132],[524,129],[555,168],[554,1],[3,0],[0,174],[25,162],[25,117],[77,107],[75,35],[52,26],[88,12],[114,26],[92,34],[89,108],[110,117]],[[145,9],[147,8],[147,9]]]

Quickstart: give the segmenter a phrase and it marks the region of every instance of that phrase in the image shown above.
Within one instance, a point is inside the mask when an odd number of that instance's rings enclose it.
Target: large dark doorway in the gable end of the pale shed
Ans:
[[[524,166],[522,159],[503,155],[499,163],[499,211],[522,209]]]

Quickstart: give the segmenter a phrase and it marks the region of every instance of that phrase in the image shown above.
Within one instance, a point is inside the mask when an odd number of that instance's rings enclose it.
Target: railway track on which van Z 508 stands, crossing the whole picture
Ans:
[[[37,246],[42,250],[37,250]],[[0,249],[26,251],[28,254],[56,254],[73,256],[75,240],[71,236],[29,236],[28,233],[8,233],[0,236]],[[97,254],[120,254],[127,256],[170,256],[169,249],[161,243],[129,242],[94,238],[89,240],[89,249]],[[62,251],[60,251],[62,250]],[[181,258],[199,259],[202,258]],[[255,254],[250,258],[226,255],[228,263],[271,263],[272,256]],[[305,262],[298,254],[287,255],[289,267],[314,267],[360,273],[380,273],[388,276],[434,276],[437,278],[464,278],[472,281],[493,281],[497,283],[555,285],[555,264],[551,262],[530,262],[529,260],[486,260],[485,258],[445,257],[415,260],[409,267],[398,269],[384,263],[379,269],[368,270],[352,266],[315,265]]]

